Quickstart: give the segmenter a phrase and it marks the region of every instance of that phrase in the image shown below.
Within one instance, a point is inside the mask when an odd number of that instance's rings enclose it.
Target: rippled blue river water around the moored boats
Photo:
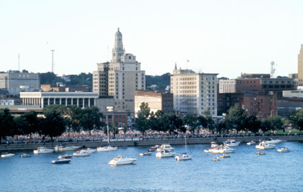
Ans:
[[[176,153],[185,151],[182,145]],[[244,143],[231,158],[213,162],[209,145],[188,145],[192,160],[139,156],[147,147],[128,147],[73,157],[70,164],[51,164],[59,153],[14,152],[0,158],[0,191],[303,191],[303,144],[282,142],[265,156]],[[288,147],[290,153],[278,153]],[[31,158],[19,158],[23,152]],[[69,151],[67,153],[72,153]],[[138,158],[135,164],[109,166],[115,156]]]

